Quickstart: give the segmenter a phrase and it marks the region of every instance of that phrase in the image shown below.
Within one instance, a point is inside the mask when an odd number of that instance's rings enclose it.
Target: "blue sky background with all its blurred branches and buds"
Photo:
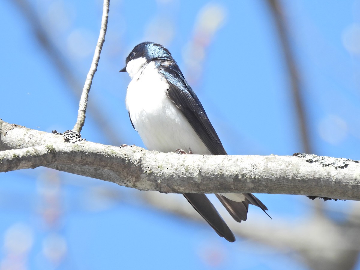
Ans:
[[[0,118],[72,129],[101,15],[100,0],[0,1]],[[229,154],[360,159],[359,0],[112,0],[83,138],[143,146],[118,73],[142,41],[171,51]],[[250,207],[228,243],[181,195],[3,173],[0,269],[360,269],[358,202],[257,196],[273,219]]]

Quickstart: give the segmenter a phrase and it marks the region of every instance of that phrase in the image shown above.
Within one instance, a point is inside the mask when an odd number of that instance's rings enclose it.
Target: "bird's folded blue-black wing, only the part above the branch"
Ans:
[[[213,155],[226,155],[219,136],[217,136],[198,97],[186,82],[179,67],[176,64],[164,64],[159,66],[159,72],[170,85],[169,98],[184,114],[210,152]]]

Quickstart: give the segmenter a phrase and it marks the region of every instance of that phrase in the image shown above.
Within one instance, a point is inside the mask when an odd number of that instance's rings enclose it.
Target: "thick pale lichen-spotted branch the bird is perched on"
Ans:
[[[180,155],[113,147],[0,120],[0,171],[45,166],[163,193],[270,193],[360,200],[360,163],[294,156]]]

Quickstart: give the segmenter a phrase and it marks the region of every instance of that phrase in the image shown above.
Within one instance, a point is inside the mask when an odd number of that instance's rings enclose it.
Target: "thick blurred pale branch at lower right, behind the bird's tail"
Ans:
[[[159,210],[175,213],[188,219],[206,223],[185,200],[157,192],[141,193],[147,205]],[[357,207],[359,208],[359,207]],[[238,236],[270,246],[281,252],[294,253],[295,258],[305,260],[311,269],[352,269],[360,247],[360,216],[356,207],[347,221],[335,224],[323,216],[288,221],[274,217],[273,220],[252,216],[239,224],[223,209],[219,208],[226,224]],[[255,208],[254,208],[255,210]],[[243,242],[239,242],[243,245]],[[295,255],[295,254],[294,254]]]

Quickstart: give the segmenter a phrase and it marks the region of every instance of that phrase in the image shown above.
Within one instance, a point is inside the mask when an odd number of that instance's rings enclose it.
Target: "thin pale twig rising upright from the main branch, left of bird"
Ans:
[[[76,131],[78,133],[81,132],[81,129],[85,123],[87,98],[89,97],[90,87],[91,87],[91,84],[93,83],[94,74],[96,72],[96,68],[98,67],[100,53],[101,53],[101,50],[103,48],[103,44],[105,41],[106,29],[108,26],[109,5],[110,5],[110,0],[104,0],[103,17],[101,19],[101,28],[100,28],[99,39],[98,39],[98,43],[96,44],[93,62],[91,63],[89,73],[87,73],[84,88],[82,89],[82,94],[81,94],[80,104],[79,104],[79,111],[78,111],[78,115],[77,115],[77,121],[73,128],[73,131]]]

